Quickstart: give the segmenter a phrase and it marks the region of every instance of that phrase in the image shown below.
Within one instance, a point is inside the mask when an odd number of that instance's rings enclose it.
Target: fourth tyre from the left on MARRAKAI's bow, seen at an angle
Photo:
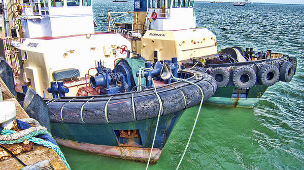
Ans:
[[[280,68],[280,80],[284,82],[291,81],[294,74],[294,64],[289,61],[284,61]]]

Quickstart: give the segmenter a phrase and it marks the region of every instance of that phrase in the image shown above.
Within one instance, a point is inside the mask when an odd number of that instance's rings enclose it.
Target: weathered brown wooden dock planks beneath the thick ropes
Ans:
[[[8,87],[0,78],[0,84],[1,84],[1,90],[3,94],[3,101],[11,101],[14,102],[16,105],[17,110],[17,116],[16,119],[22,119],[22,118],[29,118],[27,113],[23,110],[21,105],[18,103],[16,98],[12,95],[12,93],[9,91]],[[0,152],[3,150],[0,148]],[[68,169],[63,161],[60,159],[60,157],[57,155],[57,153],[50,148],[41,146],[41,145],[34,145],[33,149],[29,152],[20,153],[16,155],[22,162],[24,162],[26,165],[30,165],[33,163],[37,163],[43,160],[49,160],[52,164],[54,169],[60,169],[65,170]],[[15,158],[10,157],[4,160],[0,160],[0,169],[20,169],[24,167],[22,164],[20,164]]]

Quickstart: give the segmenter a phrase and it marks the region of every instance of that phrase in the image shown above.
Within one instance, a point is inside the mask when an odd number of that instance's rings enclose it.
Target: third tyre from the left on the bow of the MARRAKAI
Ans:
[[[273,86],[279,81],[280,71],[271,64],[266,64],[257,72],[258,81],[264,86]]]

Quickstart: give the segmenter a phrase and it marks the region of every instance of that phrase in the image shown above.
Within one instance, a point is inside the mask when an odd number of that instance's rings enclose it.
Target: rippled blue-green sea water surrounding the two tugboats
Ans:
[[[196,26],[211,30],[218,50],[253,47],[297,57],[289,83],[268,88],[254,109],[203,105],[180,169],[304,169],[304,5],[196,2]],[[96,31],[106,31],[108,11],[132,11],[133,2],[93,1]],[[132,22],[129,15],[120,22]],[[183,24],[183,23],[180,23]],[[182,115],[157,164],[175,169],[198,106]],[[146,163],[61,147],[72,169],[145,169]]]

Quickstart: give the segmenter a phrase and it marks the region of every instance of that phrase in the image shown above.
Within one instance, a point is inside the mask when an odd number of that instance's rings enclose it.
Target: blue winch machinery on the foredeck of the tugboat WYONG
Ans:
[[[141,74],[140,69],[143,70]],[[99,87],[100,94],[115,94],[130,92],[138,86],[153,88],[153,79],[171,83],[171,76],[177,77],[178,63],[177,58],[173,57],[172,60],[157,61],[152,67],[152,64],[142,57],[125,58],[117,62],[113,70],[105,68],[100,61],[97,63],[96,71],[95,76],[90,77],[91,87]],[[141,84],[138,84],[139,76],[143,78]]]

